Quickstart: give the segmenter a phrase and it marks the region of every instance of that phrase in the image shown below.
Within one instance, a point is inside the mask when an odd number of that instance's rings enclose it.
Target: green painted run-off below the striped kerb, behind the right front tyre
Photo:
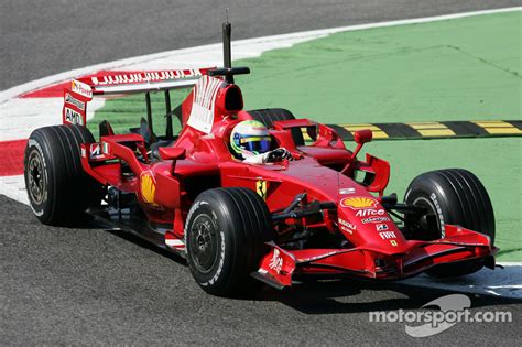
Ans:
[[[347,143],[352,148],[352,143]],[[497,221],[499,260],[522,261],[522,141],[520,138],[378,141],[369,153],[390,162],[388,193],[402,199],[416,175],[437,169],[471,171],[486,186]],[[363,158],[363,156],[359,156]]]

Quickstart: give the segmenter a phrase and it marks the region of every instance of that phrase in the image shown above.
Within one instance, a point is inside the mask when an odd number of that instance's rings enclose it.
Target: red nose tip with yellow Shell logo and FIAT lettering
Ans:
[[[339,229],[355,246],[384,253],[405,251],[406,239],[373,196],[344,196],[338,203]]]

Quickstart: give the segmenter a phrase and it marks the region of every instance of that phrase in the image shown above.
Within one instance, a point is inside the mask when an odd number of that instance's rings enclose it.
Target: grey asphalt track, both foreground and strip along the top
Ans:
[[[128,56],[218,42],[222,8],[235,39],[520,6],[520,1],[2,1],[6,89]],[[205,294],[183,261],[95,225],[42,226],[0,196],[1,345],[453,344],[519,345],[520,302],[471,297],[472,311],[510,311],[511,324],[460,323],[414,339],[368,312],[415,310],[447,294],[358,281],[265,289],[229,300]]]

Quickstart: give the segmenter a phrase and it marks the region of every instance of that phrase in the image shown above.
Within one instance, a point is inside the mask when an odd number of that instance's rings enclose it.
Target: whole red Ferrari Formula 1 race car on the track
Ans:
[[[281,289],[307,276],[395,280],[494,268],[493,210],[474,174],[433,171],[413,180],[403,203],[384,195],[389,163],[357,158],[371,131],[356,131],[350,151],[324,124],[283,109],[242,109],[233,76],[249,71],[231,67],[228,23],[224,31],[224,68],[73,80],[64,124],[35,130],[25,151],[29,199],[42,223],[70,225],[86,212],[108,219],[186,257],[196,282],[216,295],[236,295],[255,280]],[[187,86],[173,109],[170,91]],[[152,131],[154,90],[165,94],[163,137]],[[148,120],[126,134],[104,121],[95,140],[88,101],[129,93],[145,93]],[[293,160],[232,158],[230,132],[248,119],[264,123],[272,145]]]

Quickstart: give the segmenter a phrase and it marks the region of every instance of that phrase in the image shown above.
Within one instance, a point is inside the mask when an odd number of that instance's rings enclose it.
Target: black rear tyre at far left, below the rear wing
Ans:
[[[24,155],[24,178],[34,215],[46,225],[72,226],[87,207],[98,206],[102,186],[81,167],[81,143],[93,143],[89,130],[54,126],[34,130]]]

